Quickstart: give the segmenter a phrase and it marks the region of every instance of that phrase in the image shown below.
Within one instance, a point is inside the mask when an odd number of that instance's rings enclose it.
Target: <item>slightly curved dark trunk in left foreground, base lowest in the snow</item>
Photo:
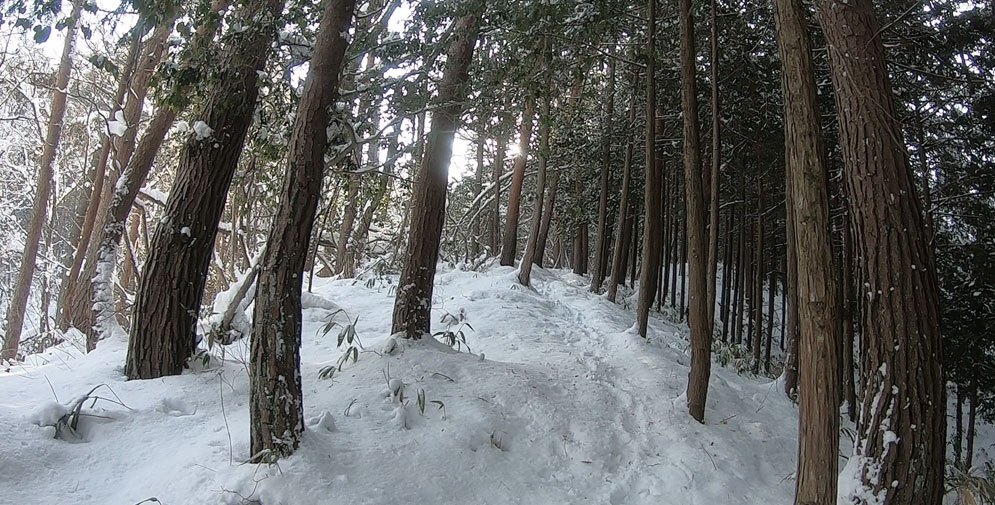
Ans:
[[[290,135],[280,206],[259,270],[249,374],[250,453],[257,461],[289,456],[304,432],[301,283],[321,195],[329,111],[338,96],[355,6],[355,0],[325,4]]]

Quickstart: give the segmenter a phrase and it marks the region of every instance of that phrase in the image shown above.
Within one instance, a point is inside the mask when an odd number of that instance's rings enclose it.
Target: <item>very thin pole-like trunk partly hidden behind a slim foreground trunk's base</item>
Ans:
[[[722,158],[722,125],[719,120],[719,33],[716,1],[712,0],[712,173],[708,211],[708,320],[715,324],[715,283],[719,260],[719,163]]]

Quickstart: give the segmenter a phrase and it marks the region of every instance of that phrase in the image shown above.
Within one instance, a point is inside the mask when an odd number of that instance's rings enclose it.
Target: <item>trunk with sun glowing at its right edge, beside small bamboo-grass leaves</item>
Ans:
[[[455,38],[449,46],[446,68],[439,84],[432,112],[425,158],[419,170],[411,212],[411,229],[404,267],[394,299],[391,333],[403,332],[406,338],[420,339],[432,325],[432,288],[439,260],[439,241],[446,215],[446,184],[453,155],[453,138],[459,127],[465,85],[470,76],[473,46],[477,43],[482,12],[473,11],[456,22]]]

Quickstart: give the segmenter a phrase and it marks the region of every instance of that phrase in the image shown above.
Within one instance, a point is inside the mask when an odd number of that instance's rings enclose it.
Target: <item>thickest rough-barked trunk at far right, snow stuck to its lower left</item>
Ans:
[[[936,505],[943,499],[947,407],[939,289],[897,119],[883,28],[871,0],[817,5],[865,293],[863,406],[854,457],[843,472],[861,485],[842,500],[863,504],[874,496],[889,504]],[[799,261],[799,281],[800,272]]]

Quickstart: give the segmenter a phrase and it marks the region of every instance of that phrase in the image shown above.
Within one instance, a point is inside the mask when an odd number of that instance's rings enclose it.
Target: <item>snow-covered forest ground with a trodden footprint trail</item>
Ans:
[[[698,424],[684,401],[686,327],[654,314],[643,339],[631,309],[585,278],[537,269],[523,289],[508,267],[439,273],[434,328],[464,314],[470,352],[390,339],[386,279],[315,281],[301,353],[308,428],[292,457],[243,463],[247,342],[147,381],[124,380],[120,336],[89,355],[66,343],[0,372],[0,503],[791,502],[798,417],[781,385],[713,364]],[[356,320],[364,350],[322,378],[345,347],[341,328],[323,333],[329,317]],[[390,393],[397,380],[403,399]],[[44,425],[101,384],[94,394],[120,404],[85,403],[81,443],[53,438]]]

